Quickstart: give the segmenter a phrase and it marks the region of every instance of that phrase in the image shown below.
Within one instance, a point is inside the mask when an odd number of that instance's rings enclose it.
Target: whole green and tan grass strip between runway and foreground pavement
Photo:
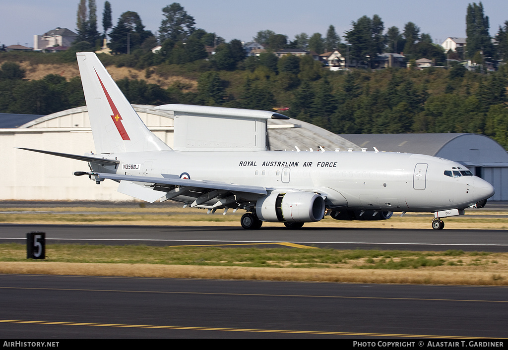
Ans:
[[[55,244],[26,261],[22,244],[0,250],[10,274],[508,285],[508,253]]]

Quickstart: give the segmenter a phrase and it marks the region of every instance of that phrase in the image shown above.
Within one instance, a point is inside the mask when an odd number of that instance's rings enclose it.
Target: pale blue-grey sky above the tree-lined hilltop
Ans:
[[[145,29],[155,33],[163,19],[162,9],[168,0],[109,0],[113,25],[126,11],[139,14]],[[276,34],[295,35],[314,33],[326,36],[330,24],[342,38],[351,23],[366,15],[377,14],[385,23],[385,31],[413,22],[420,33],[430,34],[440,44],[448,37],[465,37],[465,17],[472,1],[428,0],[180,0],[187,14],[194,17],[197,28],[216,33],[226,41],[251,41],[259,30],[270,29]],[[34,35],[42,35],[56,27],[76,32],[76,13],[79,0],[2,0],[0,2],[0,44],[34,46]],[[479,2],[477,2],[479,4]],[[506,0],[483,0],[484,14],[490,20],[490,35],[508,20]],[[104,0],[97,0],[98,30],[102,28]],[[342,39],[342,42],[344,40]]]

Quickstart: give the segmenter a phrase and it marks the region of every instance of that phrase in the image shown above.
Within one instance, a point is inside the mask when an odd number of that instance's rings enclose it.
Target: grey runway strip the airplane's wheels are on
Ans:
[[[235,245],[295,243],[333,249],[508,251],[506,230],[262,228],[216,226],[0,225],[0,243],[24,243],[26,233],[46,232],[47,244]],[[273,243],[266,244],[266,243]]]

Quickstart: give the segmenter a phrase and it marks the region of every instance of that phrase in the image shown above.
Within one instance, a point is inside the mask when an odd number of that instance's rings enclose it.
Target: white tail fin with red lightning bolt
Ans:
[[[95,53],[76,56],[97,153],[171,149],[148,130]]]

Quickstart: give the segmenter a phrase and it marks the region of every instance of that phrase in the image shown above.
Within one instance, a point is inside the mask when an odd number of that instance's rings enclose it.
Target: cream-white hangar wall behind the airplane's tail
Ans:
[[[172,114],[152,106],[134,105],[149,129],[173,144]],[[0,172],[0,200],[105,200],[132,201],[116,192],[118,183],[94,184],[75,171],[88,171],[86,162],[30,152],[16,147],[84,154],[95,152],[86,107],[53,113],[16,129],[0,129],[0,154],[6,166]]]

